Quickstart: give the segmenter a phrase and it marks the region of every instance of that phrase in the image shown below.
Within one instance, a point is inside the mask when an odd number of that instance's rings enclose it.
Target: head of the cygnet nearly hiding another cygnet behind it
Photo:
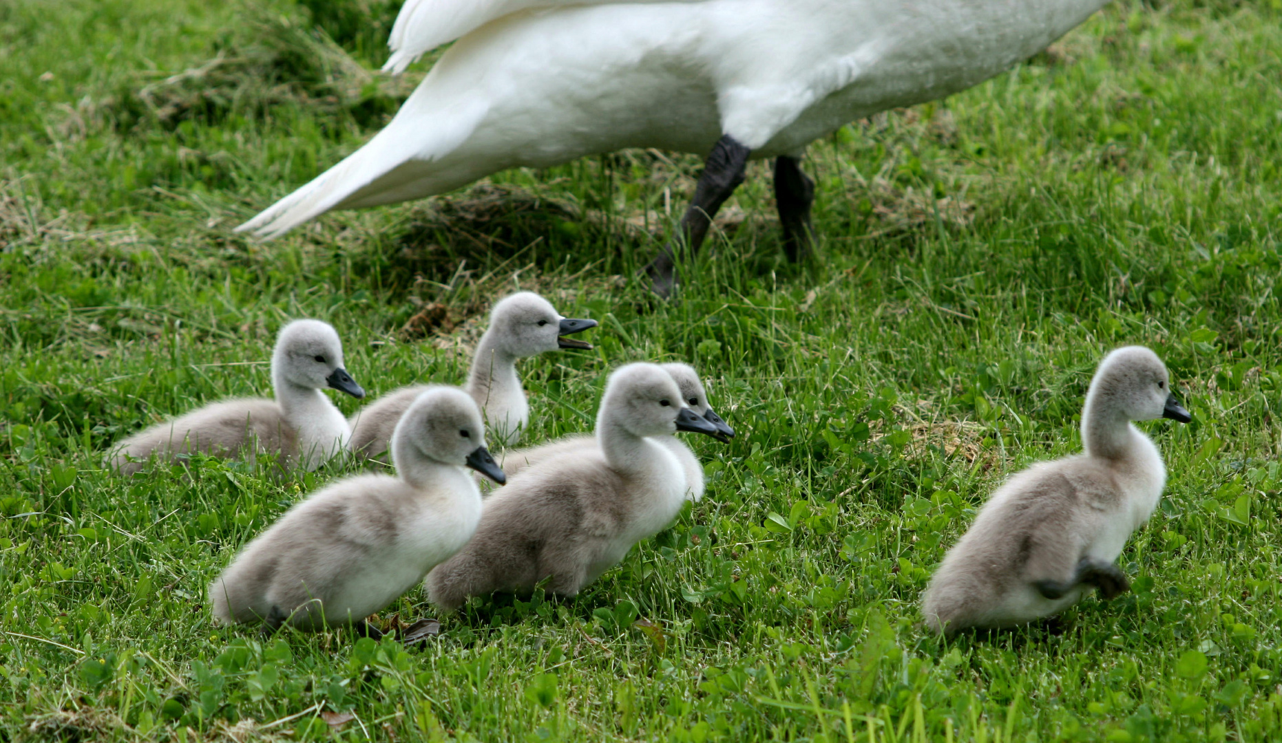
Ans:
[[[678,430],[718,433],[715,425],[690,409],[672,375],[658,364],[628,364],[610,374],[599,419],[617,421],[638,437]]]

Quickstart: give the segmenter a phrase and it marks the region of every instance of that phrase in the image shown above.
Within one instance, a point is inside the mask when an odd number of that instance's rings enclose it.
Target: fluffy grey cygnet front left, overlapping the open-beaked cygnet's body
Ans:
[[[464,466],[503,483],[481,411],[429,387],[392,434],[397,477],[356,475],[288,510],[209,587],[223,624],[356,624],[395,601],[472,537],[481,493]]]

